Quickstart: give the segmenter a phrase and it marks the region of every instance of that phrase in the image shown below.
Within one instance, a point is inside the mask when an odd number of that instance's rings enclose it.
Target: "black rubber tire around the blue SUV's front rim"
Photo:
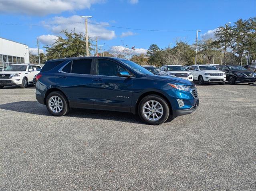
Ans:
[[[162,114],[159,114],[159,110],[157,112],[155,112],[155,114],[153,114],[151,111],[150,111],[150,108],[149,110],[146,110],[147,112],[151,112],[151,114],[149,113],[149,119],[147,119],[147,117],[143,114],[143,106],[144,104],[146,104],[148,101],[155,101],[155,106],[157,106],[158,108],[160,108],[160,104],[162,106],[162,109],[159,109],[160,112],[162,112]],[[156,102],[158,102],[159,104],[157,105]],[[150,105],[151,106],[151,109],[154,111],[157,110],[157,108],[154,108],[152,106],[152,104]],[[148,96],[145,96],[140,102],[139,102],[139,107],[138,107],[138,113],[139,113],[139,117],[141,118],[141,120],[147,124],[150,124],[150,125],[159,125],[159,124],[162,124],[164,123],[168,118],[169,118],[169,113],[170,113],[170,109],[169,109],[169,106],[167,104],[167,102],[165,101],[164,98],[162,98],[161,96],[158,96],[158,95],[148,95]],[[157,115],[158,113],[158,116],[159,116],[159,119],[158,120],[150,120],[150,118],[153,119],[153,115]],[[151,117],[150,117],[151,116]]]

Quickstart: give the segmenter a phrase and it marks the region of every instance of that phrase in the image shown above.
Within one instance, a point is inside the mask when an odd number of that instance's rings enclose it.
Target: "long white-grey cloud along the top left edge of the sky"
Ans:
[[[90,8],[100,2],[104,0],[8,0],[0,1],[0,12],[44,16]]]

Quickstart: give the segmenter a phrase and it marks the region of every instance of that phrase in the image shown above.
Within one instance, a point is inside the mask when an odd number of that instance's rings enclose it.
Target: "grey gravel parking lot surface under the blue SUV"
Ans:
[[[35,89],[0,90],[0,190],[255,190],[256,85],[198,86],[194,113],[53,117]]]

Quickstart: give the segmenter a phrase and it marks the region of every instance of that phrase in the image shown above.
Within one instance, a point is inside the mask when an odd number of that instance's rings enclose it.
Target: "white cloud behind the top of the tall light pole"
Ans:
[[[88,22],[91,22],[91,19],[88,20]],[[78,15],[73,15],[70,17],[56,16],[42,23],[52,24],[52,25],[47,25],[45,27],[55,34],[59,34],[62,30],[65,30],[65,29],[67,29],[69,32],[75,29],[76,32],[85,33],[85,19],[81,18]],[[109,25],[109,23],[107,22],[97,22],[97,24]],[[100,39],[111,40],[116,36],[115,31],[107,30],[105,26],[94,25],[91,23],[88,23],[88,35],[90,37],[93,37],[93,35],[100,35],[98,37],[99,40]]]

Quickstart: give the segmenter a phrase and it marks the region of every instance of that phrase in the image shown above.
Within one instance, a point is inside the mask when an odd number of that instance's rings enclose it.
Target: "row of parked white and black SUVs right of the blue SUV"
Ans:
[[[246,69],[247,68],[247,69]],[[249,85],[256,82],[256,65],[165,65],[157,68],[159,74],[179,77],[189,81],[198,81],[199,85],[206,83],[218,83],[224,85],[248,83]]]

